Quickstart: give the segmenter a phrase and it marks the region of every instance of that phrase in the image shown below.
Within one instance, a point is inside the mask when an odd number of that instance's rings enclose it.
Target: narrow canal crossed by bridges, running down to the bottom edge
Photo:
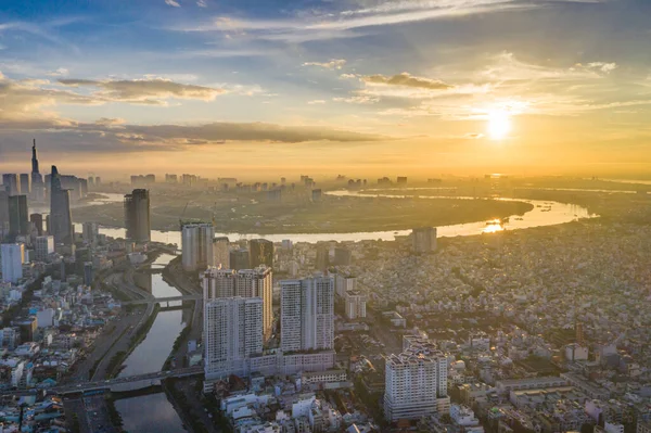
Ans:
[[[161,268],[175,256],[161,255],[151,266]],[[163,280],[161,273],[151,275],[151,291],[155,297],[177,296],[181,293]],[[184,328],[183,311],[159,311],[144,340],[125,360],[126,367],[119,377],[161,371],[171,353],[177,335]],[[115,402],[124,429],[127,432],[176,433],[184,431],[181,419],[167,399],[165,393],[125,398]],[[146,413],[146,417],[143,417]]]

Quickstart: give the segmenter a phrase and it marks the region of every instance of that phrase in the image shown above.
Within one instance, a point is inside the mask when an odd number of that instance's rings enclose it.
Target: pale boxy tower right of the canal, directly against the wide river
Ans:
[[[212,224],[186,224],[181,228],[182,265],[184,271],[204,270],[213,266],[213,238],[215,228]]]

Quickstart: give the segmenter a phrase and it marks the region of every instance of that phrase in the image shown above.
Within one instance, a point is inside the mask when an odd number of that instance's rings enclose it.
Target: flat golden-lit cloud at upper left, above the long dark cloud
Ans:
[[[166,78],[144,78],[133,80],[89,80],[78,78],[60,79],[60,84],[68,87],[94,87],[100,89],[93,97],[104,101],[131,102],[142,104],[163,104],[162,100],[196,99],[213,101],[225,89],[183,85]]]

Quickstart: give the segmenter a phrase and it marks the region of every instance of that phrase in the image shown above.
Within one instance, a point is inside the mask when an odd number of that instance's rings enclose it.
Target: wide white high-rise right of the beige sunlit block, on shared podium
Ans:
[[[283,352],[334,346],[334,284],[330,277],[280,282],[280,344]]]

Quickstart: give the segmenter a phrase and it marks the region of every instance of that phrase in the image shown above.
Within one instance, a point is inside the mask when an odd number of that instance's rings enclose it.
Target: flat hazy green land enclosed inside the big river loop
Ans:
[[[352,199],[324,194],[318,202],[303,198],[290,198],[282,203],[256,201],[233,205],[229,201],[217,202],[210,212],[201,203],[188,207],[184,218],[212,220],[227,232],[259,233],[350,233],[358,231],[404,230],[421,226],[449,226],[495,218],[524,215],[532,209],[524,202],[500,202],[495,200],[459,200],[445,198],[431,200],[400,199]],[[102,226],[123,228],[122,205],[108,203],[101,206],[75,209],[75,221],[95,221]],[[177,230],[178,215],[183,206],[166,196],[152,199],[152,228]]]

